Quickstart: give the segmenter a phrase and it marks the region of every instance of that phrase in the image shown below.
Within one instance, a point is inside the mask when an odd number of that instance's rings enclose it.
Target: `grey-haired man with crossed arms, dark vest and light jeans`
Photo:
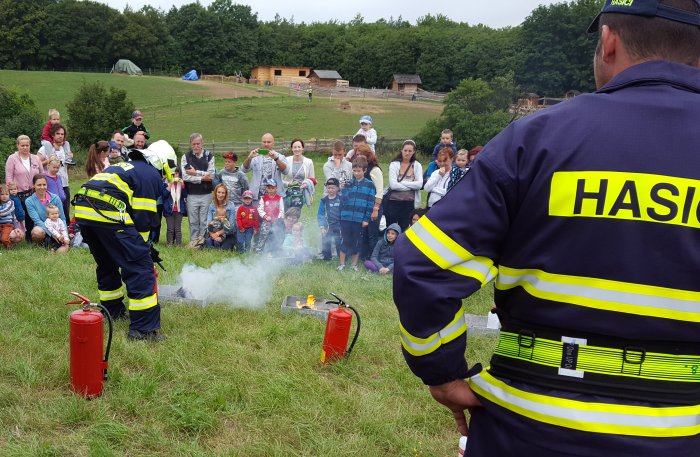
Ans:
[[[207,233],[207,209],[214,190],[212,181],[216,173],[214,155],[204,149],[200,133],[190,135],[190,151],[182,156],[182,179],[187,189],[187,218],[190,223],[189,247],[204,244]]]

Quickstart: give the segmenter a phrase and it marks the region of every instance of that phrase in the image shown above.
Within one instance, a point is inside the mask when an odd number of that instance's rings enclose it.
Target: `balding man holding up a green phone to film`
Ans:
[[[287,161],[284,156],[274,150],[275,137],[266,133],[260,139],[260,147],[253,149],[241,166],[243,173],[250,173],[250,190],[253,192],[253,204],[257,207],[258,200],[267,194],[266,183],[274,179],[281,187],[277,193],[285,193],[283,174],[289,174]]]

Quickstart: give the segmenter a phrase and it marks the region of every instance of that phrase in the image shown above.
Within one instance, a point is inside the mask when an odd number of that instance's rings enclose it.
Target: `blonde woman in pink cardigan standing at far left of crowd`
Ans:
[[[17,186],[17,196],[22,202],[22,209],[25,214],[27,205],[25,201],[32,195],[32,179],[36,175],[44,173],[44,166],[41,164],[41,159],[35,154],[31,154],[31,140],[27,135],[17,137],[17,152],[7,158],[5,163],[5,182],[15,183]],[[31,219],[25,219],[27,228],[27,239],[31,233],[34,224]]]

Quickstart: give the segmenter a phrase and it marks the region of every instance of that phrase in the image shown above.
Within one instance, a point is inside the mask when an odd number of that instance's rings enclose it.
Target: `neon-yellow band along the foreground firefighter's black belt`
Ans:
[[[561,366],[563,342],[534,338],[524,348],[520,337],[501,331],[495,354],[539,365]],[[700,382],[700,356],[642,353],[639,349],[577,345],[576,370],[632,378]]]

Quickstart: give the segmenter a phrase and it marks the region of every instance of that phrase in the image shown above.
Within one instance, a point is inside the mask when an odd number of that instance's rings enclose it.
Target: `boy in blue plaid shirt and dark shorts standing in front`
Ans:
[[[365,179],[367,159],[358,156],[352,161],[352,181],[343,190],[340,200],[340,233],[342,242],[338,254],[338,271],[345,269],[345,258],[351,256],[351,268],[357,271],[360,257],[362,229],[369,225],[374,208],[376,189],[369,179]]]

